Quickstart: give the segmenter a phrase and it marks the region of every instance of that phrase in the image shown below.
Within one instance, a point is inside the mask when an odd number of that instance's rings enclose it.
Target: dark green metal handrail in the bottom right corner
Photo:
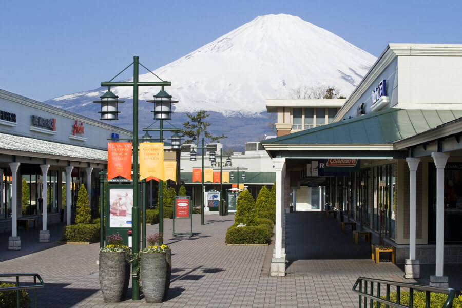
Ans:
[[[363,283],[364,282],[364,283]],[[376,283],[376,295],[374,295],[374,283]],[[385,295],[380,294],[380,287],[384,285],[386,287]],[[359,290],[358,290],[359,286]],[[390,300],[390,286],[396,287],[396,302]],[[409,288],[409,305],[400,304],[401,287]],[[370,291],[368,291],[368,288]],[[442,308],[452,308],[452,301],[455,297],[455,290],[452,288],[440,288],[429,285],[413,284],[406,282],[397,282],[389,280],[381,280],[367,277],[359,277],[352,288],[353,292],[359,294],[359,308],[362,308],[362,297],[364,297],[364,308],[368,308],[368,300],[370,307],[373,307],[374,301],[383,303],[387,308],[413,308],[414,307],[414,290],[425,292],[425,306],[430,307],[430,293],[444,293],[448,295]],[[381,298],[385,296],[385,298]],[[378,305],[379,306],[379,305]]]

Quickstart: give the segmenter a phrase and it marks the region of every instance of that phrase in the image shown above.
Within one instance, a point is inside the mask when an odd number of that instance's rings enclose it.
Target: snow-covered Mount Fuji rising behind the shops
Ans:
[[[153,71],[171,81],[165,90],[178,100],[169,122],[182,128],[186,112],[207,110],[209,131],[224,133],[225,146],[242,148],[245,142],[258,141],[268,128],[266,99],[291,98],[296,88],[332,86],[348,97],[376,57],[341,37],[299,17],[265,15],[217,38],[217,40]],[[139,75],[140,81],[158,81],[151,73]],[[99,119],[93,101],[106,88],[57,97],[45,103]],[[140,129],[152,120],[152,100],[159,87],[139,88]],[[131,129],[133,90],[112,87],[119,99],[120,120],[111,124]]]

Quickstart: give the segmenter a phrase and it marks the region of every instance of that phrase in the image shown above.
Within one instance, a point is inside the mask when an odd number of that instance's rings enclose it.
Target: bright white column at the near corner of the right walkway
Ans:
[[[275,226],[275,258],[281,258],[282,252],[282,211],[284,210],[284,177],[285,159],[273,159],[276,171],[276,226]]]

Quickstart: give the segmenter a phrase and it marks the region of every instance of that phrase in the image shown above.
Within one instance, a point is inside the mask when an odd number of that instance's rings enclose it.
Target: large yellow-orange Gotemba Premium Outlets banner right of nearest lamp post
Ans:
[[[164,144],[140,143],[140,180],[148,177],[164,178]]]

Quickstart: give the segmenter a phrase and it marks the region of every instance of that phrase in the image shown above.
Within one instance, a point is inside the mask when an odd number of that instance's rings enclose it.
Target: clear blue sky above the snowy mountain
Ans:
[[[3,1],[0,89],[38,101],[95,89],[134,55],[155,70],[257,16],[279,13],[375,56],[389,43],[462,43],[459,0]]]

